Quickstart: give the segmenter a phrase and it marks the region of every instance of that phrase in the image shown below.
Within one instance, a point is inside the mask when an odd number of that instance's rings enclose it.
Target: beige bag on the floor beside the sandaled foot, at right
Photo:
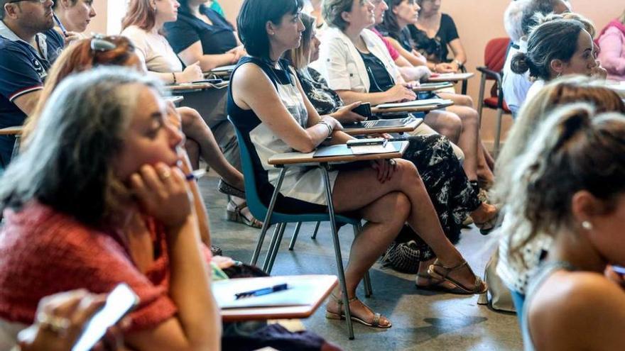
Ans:
[[[487,292],[479,296],[477,303],[480,305],[488,305],[495,311],[516,312],[510,290],[497,275],[497,262],[499,262],[499,248],[497,248],[491,256],[489,262],[484,269],[484,282],[487,282],[489,289]],[[489,300],[490,294],[490,300]]]

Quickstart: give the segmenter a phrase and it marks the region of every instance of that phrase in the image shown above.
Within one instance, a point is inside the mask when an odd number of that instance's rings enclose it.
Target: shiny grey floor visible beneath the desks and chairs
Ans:
[[[200,187],[209,208],[214,245],[222,247],[224,255],[249,262],[260,230],[225,221],[227,200],[226,196],[217,192],[216,178],[201,179]],[[322,225],[317,240],[311,240],[314,225],[303,225],[295,250],[288,251],[293,226],[290,225],[285,232],[272,274],[335,274],[329,226]],[[343,258],[347,260],[352,229],[344,228],[341,234]],[[492,243],[489,239],[475,229],[464,230],[458,245],[479,274],[484,272],[484,265],[491,253]],[[264,253],[261,252],[261,259]],[[516,316],[496,313],[477,305],[477,296],[417,290],[413,279],[413,275],[381,269],[376,264],[371,270],[374,296],[366,299],[362,289],[359,291],[365,303],[393,322],[393,327],[388,330],[374,330],[354,324],[356,339],[348,340],[347,326],[344,322],[328,321],[324,315],[324,306],[303,323],[308,330],[323,335],[344,350],[523,349]]]

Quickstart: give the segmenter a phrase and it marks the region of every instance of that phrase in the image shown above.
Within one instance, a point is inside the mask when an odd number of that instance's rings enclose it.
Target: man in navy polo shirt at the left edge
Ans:
[[[50,65],[64,46],[53,30],[52,0],[0,0],[0,128],[21,126],[37,102]],[[0,165],[15,138],[0,135]]]

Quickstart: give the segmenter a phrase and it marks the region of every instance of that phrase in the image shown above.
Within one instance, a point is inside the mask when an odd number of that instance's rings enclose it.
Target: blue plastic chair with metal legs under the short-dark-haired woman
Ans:
[[[251,155],[249,152],[249,147],[251,145],[247,145],[245,143],[245,139],[241,135],[239,128],[232,122],[232,119],[228,117],[232,126],[234,126],[234,131],[237,133],[237,140],[239,141],[239,152],[241,154],[241,167],[243,168],[243,177],[245,182],[245,198],[247,202],[247,206],[254,215],[255,218],[265,218],[263,221],[263,228],[261,228],[261,233],[259,235],[259,240],[256,243],[256,249],[254,250],[254,254],[251,258],[251,264],[256,264],[261,249],[263,247],[263,242],[265,240],[265,235],[267,230],[271,225],[276,225],[276,229],[273,231],[273,235],[271,238],[271,243],[268,248],[267,256],[265,262],[263,264],[263,270],[267,273],[271,272],[271,268],[273,267],[273,261],[276,259],[276,255],[278,253],[278,249],[280,247],[280,243],[282,241],[283,233],[286,228],[287,223],[306,223],[306,222],[330,222],[332,223],[332,218],[329,213],[302,213],[302,214],[287,214],[273,211],[273,207],[276,204],[276,199],[278,197],[278,190],[281,188],[282,180],[284,174],[286,172],[286,167],[281,169],[280,176],[278,177],[278,182],[276,184],[276,191],[273,192],[271,196],[271,201],[269,205],[263,204],[261,201],[261,197],[259,195],[258,189],[256,189],[256,172],[254,170],[254,165],[251,162]],[[320,165],[321,167],[322,165]],[[327,177],[327,173],[325,173]],[[327,179],[326,179],[327,180]],[[361,229],[361,219],[360,218],[349,218],[345,216],[334,216],[335,223],[337,225],[345,225],[350,224],[354,228],[354,236],[358,235]],[[332,225],[330,225],[332,228]],[[318,228],[318,227],[317,227]],[[315,228],[315,234],[316,229]],[[296,235],[297,230],[295,231]],[[295,243],[295,237],[292,240],[292,245]],[[339,282],[341,284],[341,289],[343,291],[343,304],[344,306],[349,307],[349,301],[347,299],[347,285],[345,284],[345,273],[343,269],[343,260],[341,255],[341,247],[339,243],[339,236],[337,228],[332,228],[332,240],[335,248],[335,257],[337,260],[337,271],[339,276]],[[369,278],[369,272],[367,272],[364,276],[364,289],[366,296],[371,296],[371,279]],[[349,339],[354,339],[354,329],[352,326],[351,313],[349,308],[345,308],[345,320],[347,321],[347,328],[349,331]]]

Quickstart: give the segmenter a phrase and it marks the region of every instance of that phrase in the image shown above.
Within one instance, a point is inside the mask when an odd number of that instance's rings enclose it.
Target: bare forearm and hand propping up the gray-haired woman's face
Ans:
[[[164,177],[165,173],[170,176]],[[187,182],[180,169],[163,164],[145,165],[131,177],[144,211],[165,225],[168,293],[178,308],[175,317],[156,328],[127,335],[126,342],[136,350],[219,350],[219,308],[212,296]]]

